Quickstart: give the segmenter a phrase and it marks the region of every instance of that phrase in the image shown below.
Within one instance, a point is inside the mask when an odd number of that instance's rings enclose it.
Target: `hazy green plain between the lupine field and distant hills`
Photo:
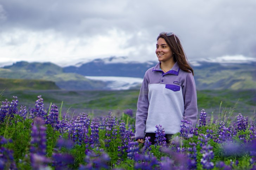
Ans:
[[[2,100],[12,101],[12,96],[17,96],[19,106],[34,107],[37,96],[44,98],[45,109],[50,103],[60,108],[62,112],[69,110],[70,114],[88,113],[90,115],[107,115],[108,111],[114,113],[125,109],[137,109],[139,90],[120,91],[95,91],[95,90],[5,90]],[[205,109],[207,113],[218,115],[234,106],[234,114],[242,113],[245,116],[254,115],[256,106],[255,90],[201,90],[197,91],[198,111]],[[222,106],[220,108],[220,103]],[[225,109],[225,110],[224,110]]]

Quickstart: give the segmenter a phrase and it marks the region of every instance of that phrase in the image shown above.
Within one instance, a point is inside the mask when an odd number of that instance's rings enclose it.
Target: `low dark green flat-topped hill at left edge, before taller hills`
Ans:
[[[59,87],[53,81],[33,79],[0,78],[0,90],[55,90]]]

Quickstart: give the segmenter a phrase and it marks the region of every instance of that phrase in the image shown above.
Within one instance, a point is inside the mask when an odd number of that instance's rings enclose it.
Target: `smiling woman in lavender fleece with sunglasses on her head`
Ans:
[[[135,138],[139,143],[146,136],[154,143],[156,125],[162,125],[168,142],[180,131],[181,120],[190,121],[191,127],[197,121],[194,72],[179,38],[174,33],[160,33],[155,53],[159,63],[145,73],[137,103]]]

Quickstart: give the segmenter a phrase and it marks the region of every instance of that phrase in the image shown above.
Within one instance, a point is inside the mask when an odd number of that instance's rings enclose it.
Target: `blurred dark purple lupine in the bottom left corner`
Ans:
[[[12,140],[8,140],[2,136],[0,136],[0,139],[0,169],[16,169],[13,150],[3,146],[4,144],[12,143]]]

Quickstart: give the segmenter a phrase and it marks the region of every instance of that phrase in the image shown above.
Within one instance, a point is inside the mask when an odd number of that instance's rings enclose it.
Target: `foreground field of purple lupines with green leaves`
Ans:
[[[55,104],[44,108],[41,96],[31,109],[13,96],[0,109],[0,169],[256,169],[254,120],[231,114],[207,117],[202,109],[196,128],[182,120],[170,144],[158,124],[156,144],[142,145],[130,109],[67,118]]]

